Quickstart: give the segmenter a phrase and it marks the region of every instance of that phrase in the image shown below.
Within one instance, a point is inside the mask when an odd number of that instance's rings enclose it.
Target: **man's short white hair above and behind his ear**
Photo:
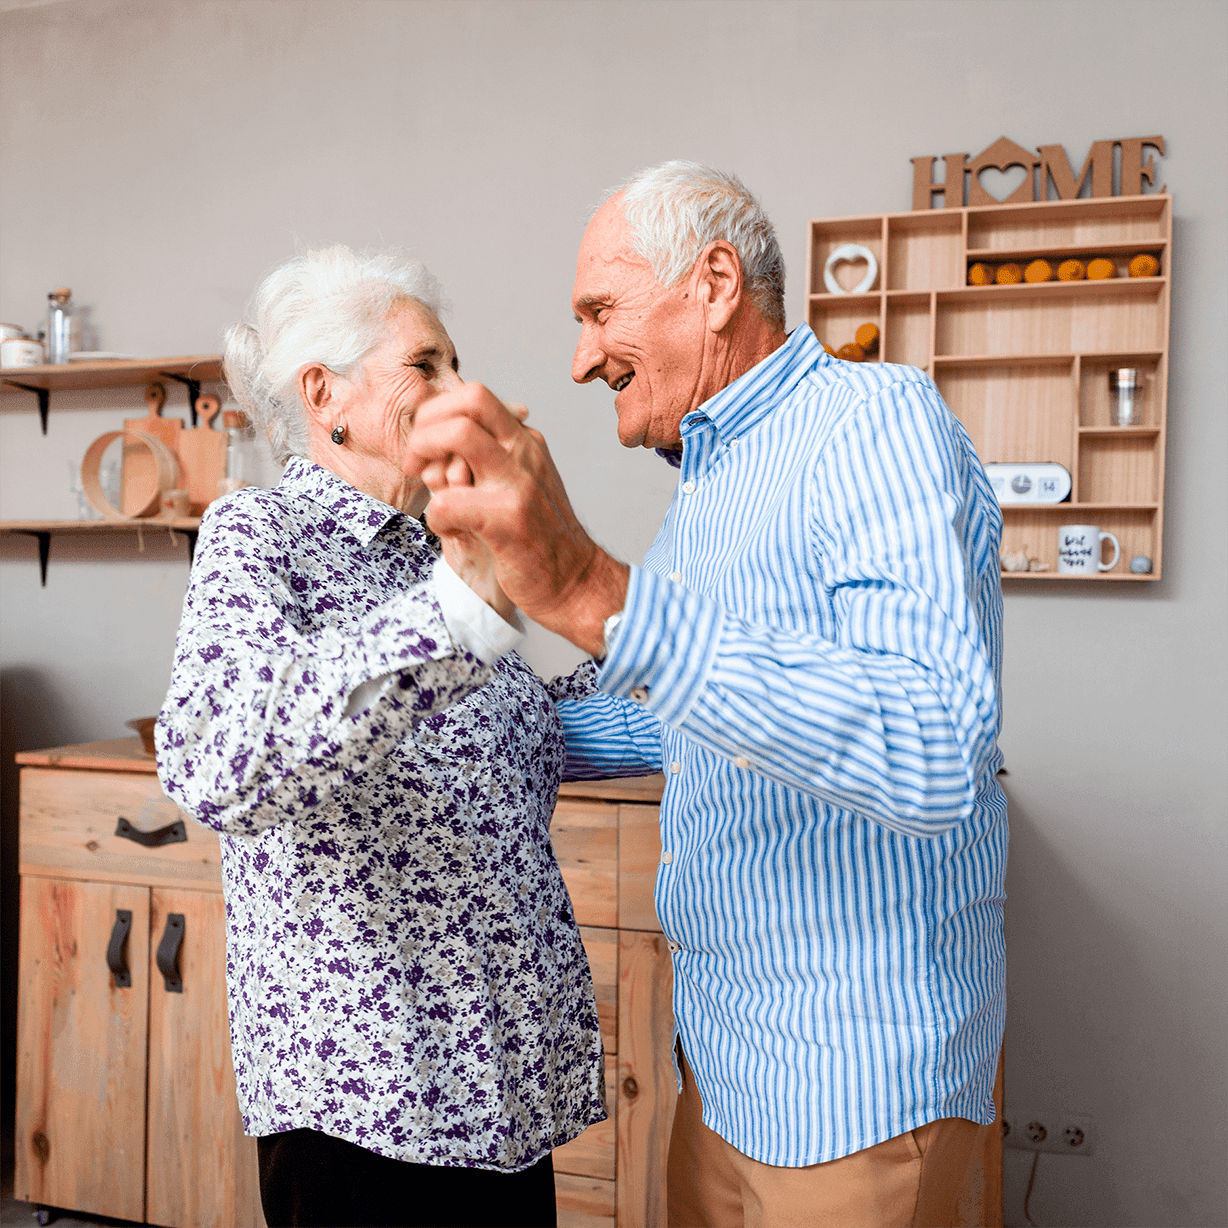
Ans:
[[[725,239],[742,262],[750,301],[783,329],[785,258],[763,206],[736,174],[699,162],[662,162],[612,188],[605,200],[620,192],[635,251],[661,285],[682,281],[709,243]]]

